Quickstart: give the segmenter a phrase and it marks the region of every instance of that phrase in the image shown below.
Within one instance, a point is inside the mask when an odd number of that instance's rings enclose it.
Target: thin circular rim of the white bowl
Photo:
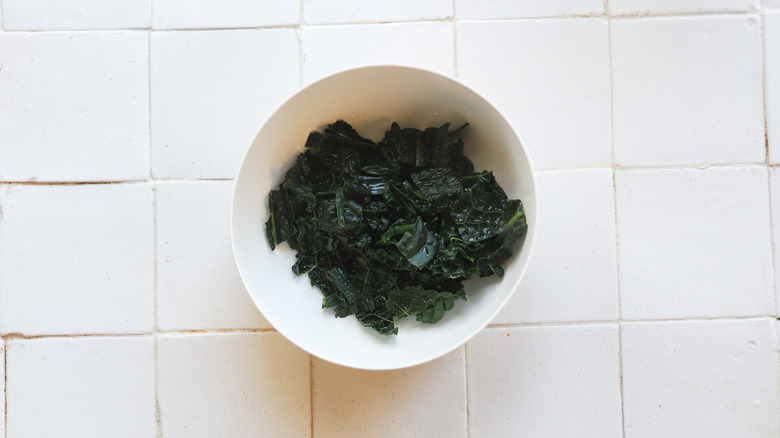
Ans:
[[[496,309],[491,313],[490,317],[486,318],[485,321],[483,323],[481,323],[479,326],[477,326],[471,333],[469,333],[468,336],[465,336],[460,342],[458,342],[457,344],[452,346],[452,348],[449,348],[449,349],[447,349],[445,351],[442,351],[439,354],[431,355],[430,357],[427,357],[427,358],[425,358],[423,360],[417,360],[417,361],[410,362],[410,363],[403,364],[403,365],[366,367],[366,366],[356,366],[356,365],[353,365],[353,364],[350,364],[350,363],[347,363],[347,362],[344,362],[344,361],[334,360],[332,358],[324,358],[324,357],[321,357],[321,356],[319,356],[317,354],[314,354],[314,353],[310,352],[309,350],[307,350],[303,346],[299,345],[294,340],[292,340],[289,337],[287,337],[284,333],[279,331],[276,328],[276,326],[273,324],[273,322],[263,313],[263,311],[260,309],[260,306],[258,306],[258,303],[255,300],[255,297],[249,291],[249,287],[247,286],[246,281],[244,279],[244,273],[242,272],[241,264],[239,263],[239,260],[238,260],[238,254],[236,252],[236,240],[235,240],[236,235],[235,235],[235,227],[234,227],[234,223],[235,223],[234,222],[234,213],[235,213],[236,197],[237,197],[237,192],[238,192],[238,190],[237,190],[238,189],[238,182],[239,182],[239,177],[241,176],[241,170],[244,167],[244,164],[246,162],[246,159],[247,159],[249,153],[252,151],[252,146],[254,145],[254,142],[257,140],[257,137],[260,135],[260,133],[265,128],[265,126],[268,124],[268,122],[276,115],[276,113],[282,107],[287,105],[291,100],[297,98],[300,94],[303,94],[304,92],[308,91],[309,88],[312,88],[312,87],[314,87],[315,85],[317,85],[317,84],[319,84],[321,82],[327,81],[327,80],[329,80],[330,78],[332,78],[334,76],[342,75],[342,74],[345,74],[345,73],[351,73],[351,72],[356,71],[356,70],[371,70],[371,69],[383,69],[383,68],[399,68],[399,69],[407,69],[407,70],[416,70],[416,71],[423,72],[423,73],[426,73],[426,74],[429,74],[429,75],[438,76],[439,78],[444,79],[446,81],[453,82],[456,85],[459,85],[459,86],[465,88],[467,91],[473,93],[475,96],[477,96],[483,102],[485,102],[491,109],[493,109],[496,112],[496,114],[498,114],[499,117],[501,117],[503,119],[503,121],[507,124],[509,129],[512,131],[512,134],[517,138],[517,140],[518,140],[518,142],[520,144],[520,147],[522,148],[523,153],[525,155],[526,162],[528,163],[528,168],[530,169],[529,178],[531,179],[531,185],[532,185],[531,192],[533,193],[533,197],[534,197],[534,201],[535,201],[534,202],[534,207],[535,208],[534,208],[532,216],[528,217],[528,221],[530,223],[534,224],[534,232],[533,233],[526,233],[526,238],[525,238],[526,240],[523,242],[523,251],[527,252],[528,257],[526,259],[525,264],[520,269],[520,273],[519,273],[519,275],[517,277],[517,280],[514,282],[514,284],[512,284],[510,286],[509,293],[504,298],[504,300],[501,302],[501,304],[499,306],[497,306]],[[530,264],[531,259],[533,258],[533,253],[534,253],[534,250],[536,248],[536,240],[537,240],[537,236],[539,234],[539,226],[540,226],[539,221],[538,221],[539,208],[540,208],[538,181],[537,181],[537,178],[536,178],[536,170],[535,170],[535,167],[533,166],[533,161],[531,159],[530,154],[528,153],[528,148],[525,146],[525,142],[523,141],[523,139],[520,136],[520,134],[517,132],[517,129],[515,128],[514,124],[511,122],[510,118],[507,117],[507,115],[500,108],[498,108],[490,99],[485,97],[478,90],[475,90],[473,87],[471,87],[470,85],[462,82],[458,78],[455,78],[455,77],[452,77],[452,76],[448,76],[448,75],[446,75],[444,73],[441,73],[441,72],[438,72],[438,71],[434,71],[434,70],[431,70],[431,69],[428,69],[428,68],[424,68],[424,67],[418,67],[418,66],[415,66],[415,65],[403,64],[403,63],[368,63],[368,64],[362,64],[362,65],[358,65],[358,66],[351,66],[351,67],[343,68],[343,69],[340,69],[340,70],[336,70],[336,71],[334,71],[332,73],[323,75],[323,76],[321,76],[321,77],[311,81],[308,84],[302,85],[297,90],[295,90],[293,93],[291,93],[287,98],[282,100],[277,106],[275,106],[274,109],[271,112],[269,112],[268,115],[263,119],[263,121],[259,125],[259,128],[257,129],[255,135],[252,137],[252,140],[249,143],[249,147],[247,147],[246,150],[244,151],[244,153],[242,154],[241,160],[240,160],[240,162],[238,164],[238,170],[234,173],[234,175],[235,176],[233,178],[233,193],[232,193],[231,200],[230,200],[230,217],[229,217],[229,221],[230,221],[230,224],[229,224],[230,248],[231,248],[231,252],[233,254],[233,262],[235,263],[235,266],[236,266],[236,269],[238,271],[239,277],[241,278],[241,284],[244,286],[244,290],[249,295],[249,298],[252,301],[252,304],[263,315],[263,318],[272,327],[273,331],[275,331],[275,332],[279,333],[280,335],[282,335],[285,339],[287,339],[289,342],[294,344],[296,347],[300,348],[301,350],[305,351],[307,354],[310,354],[313,357],[317,357],[320,360],[324,360],[326,362],[333,363],[333,364],[340,365],[340,366],[344,366],[344,367],[347,367],[347,368],[360,369],[360,370],[372,370],[372,371],[389,371],[389,370],[405,369],[405,368],[410,368],[410,367],[414,367],[414,366],[417,366],[417,365],[422,365],[422,364],[434,361],[434,360],[439,359],[439,358],[441,358],[441,357],[443,357],[443,356],[445,356],[445,355],[455,351],[456,349],[464,346],[471,339],[473,339],[477,334],[479,334],[481,331],[483,331],[488,325],[490,325],[490,322],[495,319],[496,315],[498,315],[498,313],[501,312],[501,310],[504,309],[504,307],[506,307],[506,304],[515,295],[517,290],[520,288],[520,283],[522,282],[523,278],[525,277],[525,274],[528,271],[528,265]]]

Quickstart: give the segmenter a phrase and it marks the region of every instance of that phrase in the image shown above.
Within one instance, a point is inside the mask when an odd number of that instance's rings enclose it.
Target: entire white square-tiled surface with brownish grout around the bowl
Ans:
[[[0,0],[0,436],[776,438],[778,41],[780,0]],[[370,63],[542,170],[515,298],[389,372],[270,328],[227,225],[263,120]]]

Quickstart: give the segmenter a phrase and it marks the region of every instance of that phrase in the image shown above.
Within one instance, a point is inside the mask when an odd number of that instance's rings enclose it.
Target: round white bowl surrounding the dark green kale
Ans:
[[[361,135],[379,140],[391,122],[426,128],[468,122],[464,152],[476,171],[493,170],[510,198],[523,201],[528,233],[495,277],[465,282],[468,301],[458,301],[433,325],[404,318],[396,336],[363,327],[354,316],[336,318],[322,309],[322,293],[290,267],[286,244],[271,251],[265,237],[268,192],[294,163],[309,132],[343,119]],[[506,117],[463,83],[419,68],[367,66],[322,78],[284,102],[260,129],[236,178],[231,217],[233,253],[249,295],[268,322],[287,339],[327,361],[361,369],[418,365],[464,344],[483,329],[517,289],[537,229],[536,185],[528,152]]]

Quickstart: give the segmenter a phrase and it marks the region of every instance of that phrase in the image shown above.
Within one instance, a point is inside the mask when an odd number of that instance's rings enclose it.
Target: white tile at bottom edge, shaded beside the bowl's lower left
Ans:
[[[157,358],[165,438],[311,436],[309,355],[280,334],[161,336]]]

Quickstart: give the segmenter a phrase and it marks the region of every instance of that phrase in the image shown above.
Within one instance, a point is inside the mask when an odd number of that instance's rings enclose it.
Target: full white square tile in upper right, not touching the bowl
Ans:
[[[613,21],[615,159],[763,162],[761,56],[756,16]]]

